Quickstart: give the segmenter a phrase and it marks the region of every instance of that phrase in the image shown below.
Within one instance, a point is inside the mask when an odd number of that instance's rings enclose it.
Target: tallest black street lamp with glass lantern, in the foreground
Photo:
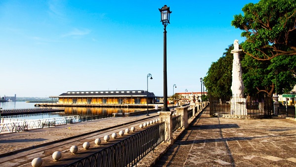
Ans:
[[[158,8],[159,9],[159,8]],[[163,108],[161,111],[170,111],[168,108],[168,88],[167,88],[167,58],[166,58],[166,26],[170,23],[170,7],[164,5],[160,11],[161,22],[164,26],[163,32]]]

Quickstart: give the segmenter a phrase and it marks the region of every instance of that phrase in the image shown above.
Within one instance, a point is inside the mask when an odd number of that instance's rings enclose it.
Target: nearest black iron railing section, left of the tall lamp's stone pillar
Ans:
[[[163,141],[164,122],[152,125],[66,167],[133,167]]]

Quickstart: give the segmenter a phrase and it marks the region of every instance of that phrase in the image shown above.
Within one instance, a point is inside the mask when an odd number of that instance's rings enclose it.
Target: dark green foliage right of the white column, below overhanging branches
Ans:
[[[241,63],[245,92],[248,94],[264,92],[272,97],[276,86],[277,93],[282,94],[291,91],[296,84],[296,56],[277,56],[262,61],[245,55]],[[278,74],[275,74],[276,70]]]

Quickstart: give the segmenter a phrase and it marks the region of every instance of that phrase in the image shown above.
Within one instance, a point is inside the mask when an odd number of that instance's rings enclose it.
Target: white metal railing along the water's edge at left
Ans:
[[[0,133],[13,131],[23,131],[29,129],[43,128],[46,126],[63,125],[69,123],[78,123],[80,120],[79,116],[68,116],[68,117],[57,117],[57,118],[47,118],[39,120],[26,120],[21,122],[10,122],[0,124]]]

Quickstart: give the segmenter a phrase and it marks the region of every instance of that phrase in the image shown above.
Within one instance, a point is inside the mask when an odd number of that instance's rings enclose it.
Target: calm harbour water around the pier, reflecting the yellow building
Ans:
[[[2,109],[27,109],[27,108],[42,108],[35,107],[35,103],[26,103],[23,101],[17,102],[0,102]],[[18,115],[18,116],[6,116],[2,118],[8,119],[45,119],[45,118],[56,118],[66,116],[94,116],[94,115],[109,115],[112,113],[128,113],[135,111],[143,111],[146,109],[137,108],[103,108],[103,107],[63,107],[65,112],[57,113],[43,113],[43,114],[30,114],[30,115]]]

